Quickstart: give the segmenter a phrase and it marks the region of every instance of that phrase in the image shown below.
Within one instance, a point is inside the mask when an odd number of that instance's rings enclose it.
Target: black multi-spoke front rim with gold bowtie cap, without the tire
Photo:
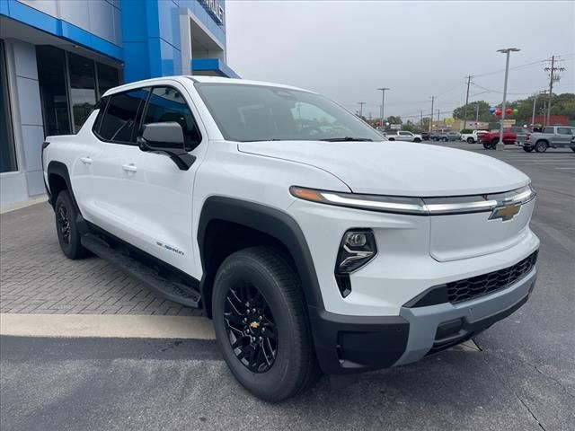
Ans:
[[[235,357],[252,373],[265,373],[278,353],[278,331],[270,306],[252,285],[231,287],[224,319]]]

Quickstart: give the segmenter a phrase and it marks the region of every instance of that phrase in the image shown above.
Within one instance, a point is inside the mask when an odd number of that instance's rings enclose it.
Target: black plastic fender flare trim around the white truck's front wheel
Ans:
[[[201,209],[198,224],[198,245],[201,265],[204,270],[201,295],[205,296],[204,281],[206,278],[206,231],[209,222],[220,220],[249,227],[275,238],[291,253],[296,269],[301,278],[302,289],[308,307],[323,309],[322,293],[314,268],[314,260],[296,220],[288,214],[261,204],[235,198],[212,196],[206,199]]]

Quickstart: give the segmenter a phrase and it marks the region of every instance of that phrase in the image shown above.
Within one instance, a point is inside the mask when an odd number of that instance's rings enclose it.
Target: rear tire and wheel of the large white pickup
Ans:
[[[88,251],[84,249],[80,241],[81,234],[76,224],[78,213],[67,190],[62,190],[57,194],[54,211],[57,242],[60,243],[60,249],[68,259],[84,258]]]

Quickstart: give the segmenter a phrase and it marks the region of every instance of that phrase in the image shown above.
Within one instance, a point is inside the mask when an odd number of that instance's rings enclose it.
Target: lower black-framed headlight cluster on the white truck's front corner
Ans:
[[[350,229],[343,234],[335,262],[335,278],[344,298],[351,293],[349,274],[365,266],[376,254],[376,238],[371,229]]]

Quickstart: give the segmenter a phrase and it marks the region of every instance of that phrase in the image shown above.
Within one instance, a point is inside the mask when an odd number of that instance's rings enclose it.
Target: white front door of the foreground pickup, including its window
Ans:
[[[128,169],[126,206],[136,235],[132,243],[173,267],[193,273],[192,190],[206,145],[200,145],[202,136],[184,94],[187,92],[175,84],[152,88],[142,125],[180,124],[184,145],[196,155],[196,162],[182,171],[166,154],[130,146],[123,166]]]

